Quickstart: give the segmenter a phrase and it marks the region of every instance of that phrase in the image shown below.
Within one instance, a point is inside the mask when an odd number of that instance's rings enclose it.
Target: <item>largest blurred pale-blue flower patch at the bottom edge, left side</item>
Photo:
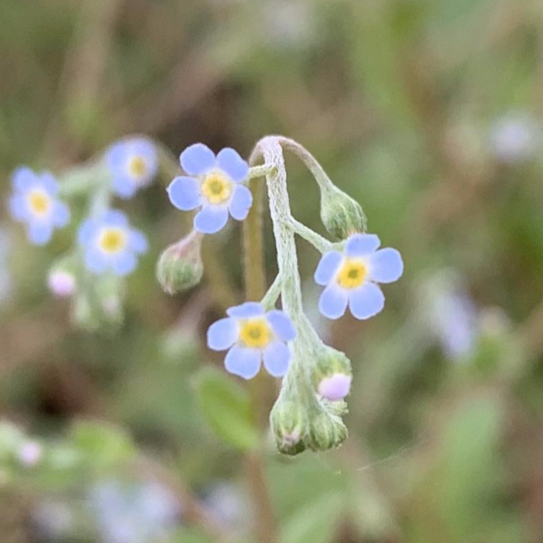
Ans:
[[[107,543],[150,543],[167,537],[181,513],[177,498],[152,482],[96,484],[89,505]]]

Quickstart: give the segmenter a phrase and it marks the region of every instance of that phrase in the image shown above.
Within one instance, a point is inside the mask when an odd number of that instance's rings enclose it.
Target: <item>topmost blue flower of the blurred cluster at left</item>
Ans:
[[[113,191],[121,198],[132,198],[157,174],[156,147],[144,138],[113,143],[106,152],[106,160],[113,174]]]

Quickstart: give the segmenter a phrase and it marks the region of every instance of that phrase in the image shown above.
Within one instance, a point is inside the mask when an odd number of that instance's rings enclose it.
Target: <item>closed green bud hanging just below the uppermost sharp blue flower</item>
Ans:
[[[201,281],[203,275],[201,240],[202,235],[193,230],[160,255],[157,279],[168,294],[186,291]]]

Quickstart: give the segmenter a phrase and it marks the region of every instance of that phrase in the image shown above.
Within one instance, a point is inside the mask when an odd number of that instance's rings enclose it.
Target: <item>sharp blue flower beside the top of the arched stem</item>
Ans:
[[[213,151],[195,143],[181,153],[181,166],[191,177],[176,177],[168,187],[172,204],[181,211],[201,208],[194,217],[194,229],[214,234],[226,224],[228,213],[245,220],[252,205],[252,194],[241,183],[247,179],[249,165],[230,147],[215,157]]]

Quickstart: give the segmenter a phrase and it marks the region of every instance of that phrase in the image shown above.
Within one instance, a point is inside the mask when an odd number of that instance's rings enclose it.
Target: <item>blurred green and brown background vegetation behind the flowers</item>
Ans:
[[[298,244],[306,310],[354,384],[343,447],[270,449],[281,542],[543,541],[540,0],[2,0],[0,74],[2,198],[19,164],[60,173],[132,133],[245,157],[282,133],[401,250],[384,312],[330,323],[318,254]],[[310,175],[287,167],[294,215],[325,235]],[[45,286],[73,229],[33,247],[1,211],[0,410],[26,436],[26,476],[0,471],[2,543],[211,540],[155,472],[33,484],[39,441],[62,443],[77,420],[122,428],[252,541],[244,468],[203,425],[191,381],[220,365],[204,342],[217,285],[227,304],[243,297],[240,228],[209,241],[218,282],[162,293],[157,256],[186,227],[168,181],[120,204],[150,252],[110,333],[74,330]],[[265,235],[271,281],[269,218]]]

